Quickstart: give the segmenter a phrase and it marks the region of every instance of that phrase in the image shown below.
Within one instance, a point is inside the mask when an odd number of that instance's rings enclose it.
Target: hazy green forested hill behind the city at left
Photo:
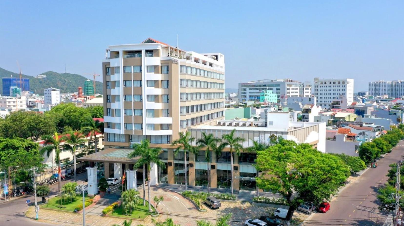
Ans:
[[[3,77],[19,77],[18,73],[7,71],[0,67],[0,78]],[[79,86],[84,88],[84,82],[87,80],[86,77],[78,74],[71,73],[57,73],[55,71],[46,71],[41,73],[41,75],[46,75],[45,78],[36,78],[29,75],[22,75],[24,78],[29,78],[30,91],[43,95],[44,89],[46,88],[57,88],[60,89],[61,93],[65,92],[77,92]],[[3,91],[3,81],[0,79],[0,93]],[[102,82],[95,82],[95,91],[102,94]]]

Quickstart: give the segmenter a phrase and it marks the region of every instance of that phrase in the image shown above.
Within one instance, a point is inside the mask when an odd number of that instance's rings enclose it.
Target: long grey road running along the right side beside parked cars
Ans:
[[[378,161],[377,168],[368,169],[342,190],[330,202],[331,209],[327,213],[315,213],[303,225],[383,225],[388,213],[378,209],[377,189],[387,182],[389,164],[402,160],[403,153],[404,141],[400,141],[391,153]]]

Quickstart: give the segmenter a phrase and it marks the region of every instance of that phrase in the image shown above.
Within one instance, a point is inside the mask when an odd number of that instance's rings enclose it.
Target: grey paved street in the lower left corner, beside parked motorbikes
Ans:
[[[82,182],[82,178],[86,179],[87,178],[87,173],[84,172],[82,174],[79,174],[77,178],[80,178],[78,180],[78,183]],[[73,179],[71,180],[66,180],[62,181],[61,184],[65,184],[67,182],[72,182]],[[50,196],[56,195],[57,193],[57,188],[58,184],[52,184],[50,186]],[[12,225],[12,226],[39,226],[39,225],[51,225],[51,224],[44,224],[44,223],[39,223],[35,222],[33,220],[30,220],[28,218],[25,218],[25,211],[26,211],[26,200],[29,199],[31,202],[34,202],[34,195],[26,195],[22,198],[19,199],[14,199],[11,201],[8,201],[6,203],[0,204],[0,225]],[[41,200],[41,198],[37,199],[38,201]],[[39,212],[39,217],[41,211]]]

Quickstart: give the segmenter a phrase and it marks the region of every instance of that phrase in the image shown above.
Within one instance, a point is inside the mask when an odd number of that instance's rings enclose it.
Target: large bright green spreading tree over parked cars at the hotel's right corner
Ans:
[[[290,205],[287,219],[304,201],[330,200],[349,176],[349,167],[338,157],[321,153],[310,144],[282,140],[258,151],[257,186],[282,194]],[[297,195],[291,199],[292,193]]]

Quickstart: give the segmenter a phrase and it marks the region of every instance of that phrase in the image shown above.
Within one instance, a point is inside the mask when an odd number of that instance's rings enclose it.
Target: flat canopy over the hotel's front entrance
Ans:
[[[128,159],[128,154],[133,149],[105,149],[90,155],[86,155],[77,159],[77,161],[93,161],[93,162],[110,162],[110,163],[128,163],[135,164],[140,157]]]

